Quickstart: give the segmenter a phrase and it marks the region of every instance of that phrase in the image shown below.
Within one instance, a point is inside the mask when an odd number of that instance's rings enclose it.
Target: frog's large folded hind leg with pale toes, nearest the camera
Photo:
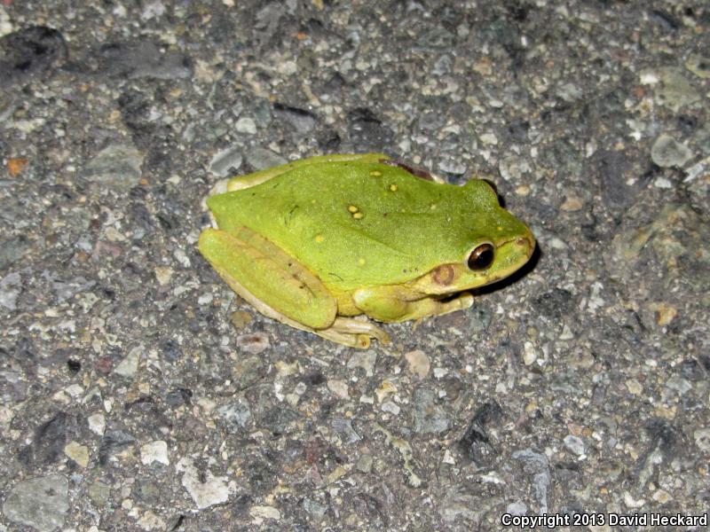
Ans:
[[[337,301],[319,278],[247,227],[202,231],[199,247],[227,285],[264,316],[354,348],[367,348],[370,338],[390,340],[373,324],[336,317]]]

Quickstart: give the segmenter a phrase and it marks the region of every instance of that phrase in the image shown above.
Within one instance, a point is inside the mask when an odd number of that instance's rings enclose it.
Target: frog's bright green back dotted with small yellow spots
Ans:
[[[461,231],[464,218],[490,210],[465,188],[378,162],[340,161],[315,172],[295,168],[210,198],[209,207],[221,229],[247,226],[327,285],[348,289],[401,283],[461,261],[471,239]]]

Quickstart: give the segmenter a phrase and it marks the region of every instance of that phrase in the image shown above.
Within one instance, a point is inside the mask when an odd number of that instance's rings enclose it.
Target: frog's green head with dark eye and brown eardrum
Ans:
[[[509,277],[528,262],[535,249],[530,229],[501,207],[490,184],[472,179],[464,185],[471,211],[455,231],[456,255],[414,279],[421,293],[456,293]]]

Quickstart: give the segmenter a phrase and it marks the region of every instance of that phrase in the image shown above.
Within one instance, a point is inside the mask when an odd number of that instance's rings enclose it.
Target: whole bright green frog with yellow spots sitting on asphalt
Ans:
[[[317,155],[233,177],[206,199],[198,248],[258,312],[351,348],[374,321],[468,309],[533,254],[485,179],[448,184],[384,153]]]

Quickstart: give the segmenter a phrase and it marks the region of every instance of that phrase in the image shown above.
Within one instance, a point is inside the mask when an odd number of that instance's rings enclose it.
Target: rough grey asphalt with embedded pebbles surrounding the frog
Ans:
[[[1,4],[0,530],[707,511],[706,2]],[[375,150],[535,261],[359,352],[197,253],[220,176]]]

